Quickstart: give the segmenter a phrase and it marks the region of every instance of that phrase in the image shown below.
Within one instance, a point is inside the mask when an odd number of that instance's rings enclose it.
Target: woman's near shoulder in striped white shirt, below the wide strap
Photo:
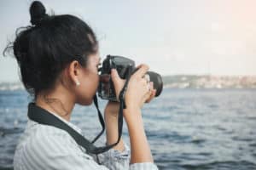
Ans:
[[[22,144],[15,151],[15,162],[26,169],[86,169],[99,166],[69,133],[59,128],[28,122],[22,138]]]

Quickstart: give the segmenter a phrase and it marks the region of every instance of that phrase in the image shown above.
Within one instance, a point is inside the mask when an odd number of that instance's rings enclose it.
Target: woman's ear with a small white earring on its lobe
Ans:
[[[79,75],[81,74],[81,65],[77,60],[73,60],[67,66],[67,74],[71,77],[71,80],[77,86],[80,84]]]

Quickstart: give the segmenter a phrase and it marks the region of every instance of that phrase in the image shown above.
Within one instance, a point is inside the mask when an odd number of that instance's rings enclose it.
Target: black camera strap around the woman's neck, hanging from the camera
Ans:
[[[67,123],[61,121],[58,117],[54,116],[52,113],[49,113],[49,111],[44,110],[43,108],[39,107],[35,103],[30,103],[28,105],[28,111],[27,111],[27,116],[34,122],[38,122],[40,124],[44,125],[49,125],[53,127],[60,128],[62,130],[65,130],[67,133],[69,133],[73,139],[76,141],[77,144],[82,146],[87,153],[90,154],[100,154],[102,152],[108,151],[113,146],[119,143],[119,140],[121,139],[122,131],[123,131],[123,110],[125,109],[125,92],[128,86],[128,82],[131,77],[131,69],[129,69],[129,75],[125,81],[124,88],[120,91],[119,94],[119,116],[118,116],[118,132],[119,132],[119,138],[116,143],[114,144],[109,144],[107,146],[102,146],[102,147],[96,147],[94,143],[96,142],[97,139],[100,138],[102,133],[105,130],[105,122],[102,117],[102,113],[99,110],[98,106],[98,100],[96,95],[94,96],[94,104],[96,105],[96,109],[98,112],[98,118],[99,121],[101,122],[102,125],[102,131],[99,133],[95,139],[93,139],[91,142],[88,139],[85,139],[83,135],[75,131],[72,127],[68,126]]]

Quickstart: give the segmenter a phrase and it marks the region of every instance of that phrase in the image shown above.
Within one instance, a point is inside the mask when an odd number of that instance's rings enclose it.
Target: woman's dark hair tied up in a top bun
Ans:
[[[96,35],[78,17],[48,15],[44,5],[34,1],[30,7],[32,26],[16,30],[11,48],[20,66],[21,81],[29,94],[37,94],[54,86],[61,71],[73,60],[86,66],[89,54],[98,48]]]

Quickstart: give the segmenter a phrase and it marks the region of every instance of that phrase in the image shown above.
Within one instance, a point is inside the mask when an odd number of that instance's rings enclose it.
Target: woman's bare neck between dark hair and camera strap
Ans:
[[[55,88],[53,92],[40,93],[36,99],[36,105],[44,108],[50,113],[61,116],[70,121],[70,116],[75,105],[73,95],[64,88]]]

